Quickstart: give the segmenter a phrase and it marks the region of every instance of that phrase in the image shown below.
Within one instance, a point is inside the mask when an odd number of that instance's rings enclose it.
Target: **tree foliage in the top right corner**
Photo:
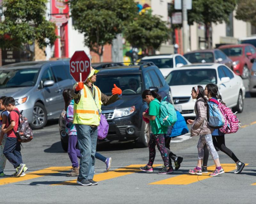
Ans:
[[[236,19],[248,21],[256,26],[256,0],[238,0]]]

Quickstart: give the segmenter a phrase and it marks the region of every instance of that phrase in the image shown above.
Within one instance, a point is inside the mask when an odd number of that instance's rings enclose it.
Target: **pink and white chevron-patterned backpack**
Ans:
[[[219,129],[220,132],[225,134],[236,133],[240,126],[240,121],[235,115],[236,113],[234,114],[230,108],[220,103],[220,101],[219,101],[219,109],[225,118],[224,126]]]

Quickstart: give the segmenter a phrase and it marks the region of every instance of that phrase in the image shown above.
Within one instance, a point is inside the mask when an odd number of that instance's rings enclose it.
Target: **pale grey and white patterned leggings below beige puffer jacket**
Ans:
[[[212,142],[212,135],[211,134],[207,134],[207,135],[200,135],[199,140],[198,140],[198,144],[197,144],[197,149],[198,149],[198,160],[202,160],[204,159],[204,145],[207,145],[207,148],[209,150],[209,152],[212,155],[212,159],[218,159],[219,155],[213,145]]]

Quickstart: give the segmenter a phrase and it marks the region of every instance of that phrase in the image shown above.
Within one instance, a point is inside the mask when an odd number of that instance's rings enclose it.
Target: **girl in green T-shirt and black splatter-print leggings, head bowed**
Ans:
[[[140,167],[141,171],[153,172],[153,163],[156,157],[156,149],[157,146],[162,159],[164,161],[163,168],[158,171],[158,174],[171,174],[173,172],[172,165],[169,164],[169,156],[167,150],[164,145],[164,135],[167,132],[168,127],[164,127],[161,123],[156,120],[156,118],[160,118],[160,104],[161,96],[157,94],[155,91],[145,90],[142,93],[142,99],[149,104],[148,113],[143,112],[142,115],[144,118],[149,120],[153,135],[151,136],[148,142],[149,149],[149,161],[148,164],[144,167]],[[158,128],[159,127],[159,128]]]

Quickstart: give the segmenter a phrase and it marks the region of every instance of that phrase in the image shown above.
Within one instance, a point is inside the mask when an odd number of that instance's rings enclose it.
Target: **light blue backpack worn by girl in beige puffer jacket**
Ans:
[[[203,99],[199,99],[198,101],[204,102]],[[225,119],[222,113],[220,112],[217,104],[207,102],[207,121],[209,126],[214,129],[219,129],[224,126]]]

